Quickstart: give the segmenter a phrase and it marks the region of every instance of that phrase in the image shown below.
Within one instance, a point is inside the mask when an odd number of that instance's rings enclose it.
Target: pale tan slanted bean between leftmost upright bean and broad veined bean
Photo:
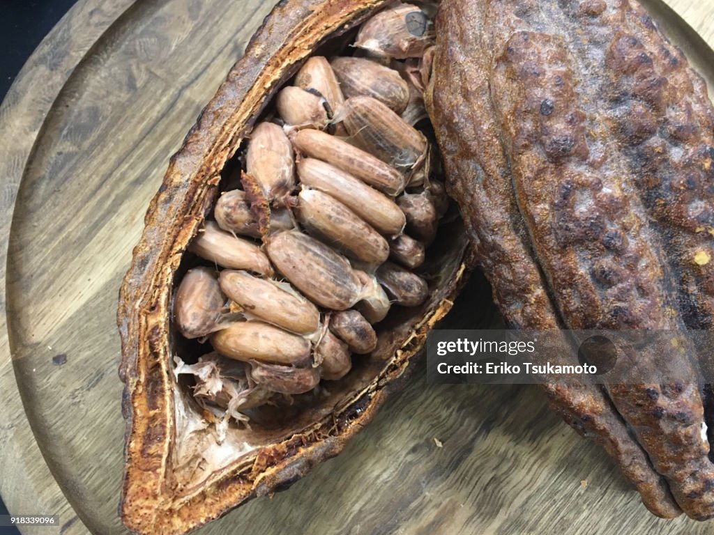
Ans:
[[[224,270],[219,281],[228,297],[261,320],[304,335],[318,328],[320,312],[297,292],[286,292],[274,282],[244,271]]]

